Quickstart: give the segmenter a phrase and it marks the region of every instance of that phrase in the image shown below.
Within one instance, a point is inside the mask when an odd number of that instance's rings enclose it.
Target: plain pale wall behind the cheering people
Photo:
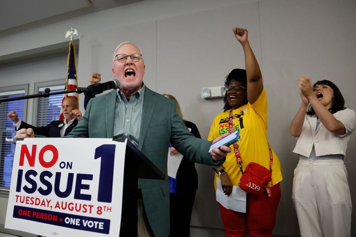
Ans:
[[[112,79],[112,51],[121,41],[132,40],[143,50],[147,86],[160,93],[175,95],[184,117],[195,122],[202,137],[207,137],[212,119],[222,112],[223,102],[221,99],[201,99],[199,89],[222,85],[231,69],[244,67],[243,52],[231,27],[249,29],[251,45],[262,68],[267,90],[269,142],[280,158],[284,177],[274,233],[297,236],[291,187],[298,158],[291,152],[295,141],[289,135],[290,121],[300,105],[296,79],[308,75],[313,81],[332,80],[341,89],[346,106],[356,109],[355,10],[354,0],[145,0],[2,36],[0,60],[16,57],[23,51],[32,52],[60,44],[65,41],[65,31],[74,27],[80,34],[79,86],[86,86],[92,71],[100,72],[104,81]],[[65,56],[52,60],[57,67],[46,67],[42,75],[30,70],[29,64],[1,65],[0,86],[26,80],[33,92],[33,83],[43,81],[38,79],[39,76],[59,79],[63,72],[61,67],[65,67]],[[40,60],[38,63],[51,65],[50,61]],[[2,76],[4,72],[6,77]],[[28,111],[28,118],[32,118],[32,110]],[[354,203],[355,142],[354,134],[345,161]],[[199,227],[196,230],[200,227],[221,229],[212,169],[200,164],[196,167],[199,189],[192,225]],[[0,225],[5,215],[4,199],[0,198]],[[356,217],[355,211],[353,217]],[[352,226],[352,234],[356,235],[355,218]],[[206,236],[196,230],[194,235]],[[223,232],[220,235],[223,236]]]

